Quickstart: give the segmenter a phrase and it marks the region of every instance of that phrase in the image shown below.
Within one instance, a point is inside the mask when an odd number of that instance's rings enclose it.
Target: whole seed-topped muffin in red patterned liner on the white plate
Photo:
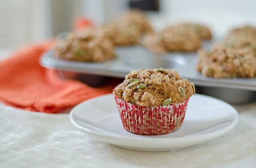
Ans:
[[[133,70],[113,90],[124,128],[134,134],[167,134],[184,120],[195,86],[174,70]]]

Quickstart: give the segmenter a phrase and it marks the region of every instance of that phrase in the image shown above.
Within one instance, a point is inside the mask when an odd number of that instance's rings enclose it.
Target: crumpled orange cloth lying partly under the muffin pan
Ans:
[[[54,42],[30,45],[0,62],[0,101],[25,110],[59,113],[88,98],[110,93],[121,82],[113,79],[95,88],[60,78],[55,70],[38,62],[41,54],[53,45]]]

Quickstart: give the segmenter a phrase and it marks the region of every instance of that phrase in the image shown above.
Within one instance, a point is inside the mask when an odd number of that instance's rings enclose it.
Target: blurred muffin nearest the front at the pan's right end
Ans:
[[[213,78],[253,78],[256,57],[249,48],[227,48],[220,44],[210,51],[198,50],[196,69]]]

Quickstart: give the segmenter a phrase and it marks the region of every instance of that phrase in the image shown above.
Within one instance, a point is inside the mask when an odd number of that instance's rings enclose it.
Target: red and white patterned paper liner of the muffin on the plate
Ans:
[[[168,106],[139,106],[114,95],[124,128],[134,134],[168,134],[180,128],[189,98]]]

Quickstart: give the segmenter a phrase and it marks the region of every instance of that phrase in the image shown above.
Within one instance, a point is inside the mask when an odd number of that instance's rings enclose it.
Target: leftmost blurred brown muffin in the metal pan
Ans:
[[[55,46],[55,58],[80,62],[103,62],[114,58],[114,45],[100,28],[70,33]]]

